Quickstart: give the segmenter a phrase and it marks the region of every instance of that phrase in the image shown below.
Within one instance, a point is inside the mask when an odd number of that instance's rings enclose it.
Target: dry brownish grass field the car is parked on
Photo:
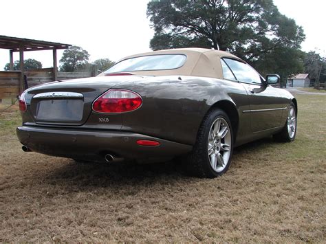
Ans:
[[[17,111],[1,113],[0,241],[325,243],[326,96],[297,98],[296,141],[241,146],[217,179],[187,177],[175,162],[23,153]]]

